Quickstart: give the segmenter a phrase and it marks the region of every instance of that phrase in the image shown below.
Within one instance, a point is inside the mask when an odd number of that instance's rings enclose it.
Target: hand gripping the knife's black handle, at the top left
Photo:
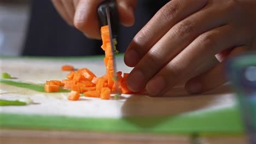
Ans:
[[[52,0],[61,17],[82,31],[86,37],[101,39],[97,7],[103,0]],[[132,26],[137,0],[117,0],[120,23]]]

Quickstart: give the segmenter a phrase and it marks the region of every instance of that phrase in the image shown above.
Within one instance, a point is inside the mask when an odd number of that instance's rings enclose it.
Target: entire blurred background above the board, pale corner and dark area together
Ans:
[[[119,27],[118,49],[168,1],[138,1],[136,23]],[[90,40],[61,19],[50,0],[0,0],[0,55],[88,56],[103,54],[100,40]]]

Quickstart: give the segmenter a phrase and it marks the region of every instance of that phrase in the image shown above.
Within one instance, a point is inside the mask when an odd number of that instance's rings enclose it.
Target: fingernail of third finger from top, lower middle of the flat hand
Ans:
[[[147,91],[150,95],[157,96],[160,94],[166,87],[166,82],[164,77],[158,76],[153,80],[150,80],[147,84]]]

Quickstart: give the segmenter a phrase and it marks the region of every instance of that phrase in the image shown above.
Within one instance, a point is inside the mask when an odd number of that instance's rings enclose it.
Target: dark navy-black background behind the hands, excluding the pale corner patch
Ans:
[[[1,1],[1,0],[0,0]],[[119,27],[118,50],[125,52],[132,38],[168,1],[138,0],[135,25]],[[101,55],[101,40],[87,39],[61,19],[50,0],[31,1],[31,15],[24,56],[88,56]]]

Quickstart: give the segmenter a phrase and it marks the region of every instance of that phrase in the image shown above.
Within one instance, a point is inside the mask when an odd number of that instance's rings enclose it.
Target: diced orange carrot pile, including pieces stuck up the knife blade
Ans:
[[[104,64],[106,66],[106,75],[97,77],[92,71],[87,68],[74,70],[72,65],[63,65],[62,71],[71,71],[66,77],[67,79],[62,81],[46,81],[45,92],[58,92],[59,87],[71,89],[69,94],[69,100],[78,100],[80,93],[83,93],[85,97],[94,97],[101,99],[110,99],[110,94],[117,92],[117,88],[120,93],[130,94],[132,93],[126,85],[126,79],[129,74],[118,71],[114,73],[114,58],[112,55],[112,49],[109,38],[108,26],[101,27],[102,34],[102,49],[105,51]],[[115,51],[117,52],[117,51]],[[114,75],[117,75],[117,83],[114,81]]]

